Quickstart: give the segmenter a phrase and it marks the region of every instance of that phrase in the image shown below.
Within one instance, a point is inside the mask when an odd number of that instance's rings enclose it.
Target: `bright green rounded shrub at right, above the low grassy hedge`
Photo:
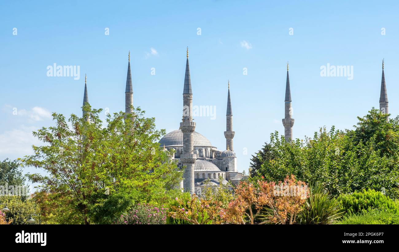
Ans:
[[[340,195],[338,200],[341,201],[342,210],[346,211],[346,215],[365,214],[373,209],[399,214],[399,208],[393,200],[381,192],[371,189]]]

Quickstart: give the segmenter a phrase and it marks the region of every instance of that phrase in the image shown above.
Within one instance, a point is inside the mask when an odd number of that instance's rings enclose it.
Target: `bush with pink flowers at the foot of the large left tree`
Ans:
[[[166,224],[168,211],[164,207],[150,204],[137,204],[130,211],[123,213],[114,224]]]

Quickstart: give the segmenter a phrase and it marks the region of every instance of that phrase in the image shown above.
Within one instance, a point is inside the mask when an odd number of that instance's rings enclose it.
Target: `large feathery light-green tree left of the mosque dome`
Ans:
[[[85,224],[111,223],[134,203],[166,203],[182,173],[172,162],[172,152],[162,151],[158,140],[165,130],[156,130],[155,118],[144,117],[134,108],[99,118],[101,109],[83,107],[85,118],[71,114],[68,121],[53,113],[55,126],[33,135],[45,143],[33,146],[25,166],[41,168],[48,175],[29,174],[42,183],[41,191],[63,199],[76,218]]]

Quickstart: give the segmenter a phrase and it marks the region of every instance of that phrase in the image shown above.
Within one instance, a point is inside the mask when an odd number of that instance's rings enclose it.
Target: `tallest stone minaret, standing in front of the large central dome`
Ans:
[[[193,108],[193,93],[191,90],[190,67],[188,65],[188,47],[187,47],[187,61],[186,61],[186,76],[184,77],[183,89],[183,118],[180,122],[180,129],[183,132],[183,154],[180,155],[182,164],[186,166],[183,173],[183,188],[184,191],[194,194],[194,164],[196,163],[197,155],[194,154],[193,146],[193,132],[196,128],[196,123],[193,122],[192,108]]]

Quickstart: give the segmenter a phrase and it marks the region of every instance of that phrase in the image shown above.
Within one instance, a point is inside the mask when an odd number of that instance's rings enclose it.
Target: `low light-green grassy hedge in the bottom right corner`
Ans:
[[[386,211],[370,211],[360,215],[349,215],[337,224],[399,224],[399,215]]]

